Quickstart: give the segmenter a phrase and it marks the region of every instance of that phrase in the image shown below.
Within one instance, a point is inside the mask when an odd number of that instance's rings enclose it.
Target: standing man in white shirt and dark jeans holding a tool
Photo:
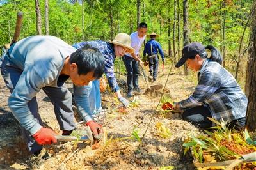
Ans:
[[[131,47],[135,51],[133,54],[125,54],[123,57],[127,71],[127,97],[132,97],[132,89],[138,93],[141,92],[138,84],[140,75],[139,65],[143,66],[143,62],[140,59],[139,50],[146,38],[147,27],[145,22],[141,22],[137,31],[130,35],[132,39]]]

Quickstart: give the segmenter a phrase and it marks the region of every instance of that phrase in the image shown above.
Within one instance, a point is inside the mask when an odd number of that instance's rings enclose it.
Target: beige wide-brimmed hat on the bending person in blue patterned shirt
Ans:
[[[129,53],[134,53],[134,48],[131,47],[132,39],[131,36],[127,35],[126,33],[118,33],[113,41],[108,40],[109,43],[113,43],[116,45],[120,45],[122,47],[126,47],[129,49]]]

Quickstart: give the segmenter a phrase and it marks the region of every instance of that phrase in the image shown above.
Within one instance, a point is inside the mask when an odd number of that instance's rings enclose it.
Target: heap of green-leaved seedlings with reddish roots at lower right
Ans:
[[[205,130],[207,135],[192,135],[186,139],[182,145],[185,149],[184,155],[191,150],[196,160],[202,163],[232,160],[256,151],[247,130],[230,130],[223,120],[210,120],[216,124],[216,127],[211,128],[214,132]]]

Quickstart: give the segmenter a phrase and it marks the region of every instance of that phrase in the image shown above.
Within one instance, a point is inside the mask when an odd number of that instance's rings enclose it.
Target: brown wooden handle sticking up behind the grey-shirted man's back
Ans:
[[[12,42],[4,44],[5,49],[10,49],[10,46],[19,40],[20,30],[21,30],[21,26],[22,26],[22,18],[23,18],[23,13],[17,12],[15,33],[13,35]]]

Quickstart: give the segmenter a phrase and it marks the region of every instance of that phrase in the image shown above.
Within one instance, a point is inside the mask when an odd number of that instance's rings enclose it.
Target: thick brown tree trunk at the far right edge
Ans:
[[[253,9],[256,8],[256,1],[254,1]],[[253,10],[251,35],[250,35],[250,49],[247,73],[246,73],[246,96],[248,97],[248,107],[246,112],[246,127],[248,130],[256,130],[256,10]]]

